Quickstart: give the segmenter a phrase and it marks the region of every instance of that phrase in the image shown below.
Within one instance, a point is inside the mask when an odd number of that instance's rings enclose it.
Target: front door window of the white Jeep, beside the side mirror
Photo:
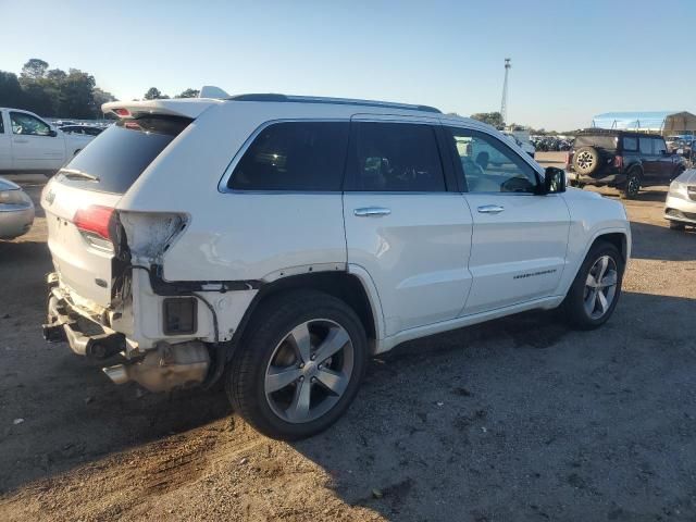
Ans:
[[[470,192],[535,192],[536,172],[499,139],[464,128],[449,128]]]

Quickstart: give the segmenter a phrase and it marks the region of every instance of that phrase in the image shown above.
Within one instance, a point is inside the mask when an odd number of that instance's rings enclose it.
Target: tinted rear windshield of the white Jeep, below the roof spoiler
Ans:
[[[174,116],[121,120],[85,147],[58,178],[72,187],[124,194],[190,122]]]

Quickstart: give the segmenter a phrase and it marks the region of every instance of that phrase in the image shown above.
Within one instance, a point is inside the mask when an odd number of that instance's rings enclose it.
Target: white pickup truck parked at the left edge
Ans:
[[[0,107],[0,172],[53,174],[94,138],[63,133],[33,112]]]

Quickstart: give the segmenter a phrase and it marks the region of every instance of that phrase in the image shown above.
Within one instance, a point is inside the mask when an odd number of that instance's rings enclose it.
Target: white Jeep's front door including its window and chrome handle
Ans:
[[[493,134],[447,127],[473,216],[469,315],[558,294],[570,214],[561,195],[538,196],[532,165]]]

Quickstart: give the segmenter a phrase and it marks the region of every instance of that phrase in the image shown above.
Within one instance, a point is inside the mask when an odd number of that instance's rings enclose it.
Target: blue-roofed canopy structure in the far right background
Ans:
[[[644,130],[662,134],[695,134],[696,115],[691,112],[606,112],[592,119],[592,126],[622,130]]]

